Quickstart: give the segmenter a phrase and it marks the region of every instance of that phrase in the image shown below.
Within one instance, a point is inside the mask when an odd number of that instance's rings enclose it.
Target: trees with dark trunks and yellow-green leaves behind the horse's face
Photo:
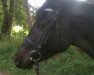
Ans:
[[[36,9],[30,11],[28,0],[1,0],[0,1],[0,32],[3,35],[10,35],[14,25],[20,25],[28,30],[34,22]],[[32,15],[31,15],[32,13]],[[2,15],[3,14],[3,15]],[[33,17],[33,18],[32,18]],[[31,21],[32,20],[32,21]],[[3,22],[2,22],[3,21]]]

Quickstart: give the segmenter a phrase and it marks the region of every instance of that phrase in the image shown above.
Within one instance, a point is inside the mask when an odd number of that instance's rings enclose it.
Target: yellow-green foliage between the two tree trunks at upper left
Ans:
[[[26,14],[25,14],[25,8],[23,4],[23,0],[16,0],[15,1],[15,21],[19,25],[25,25],[26,26]]]

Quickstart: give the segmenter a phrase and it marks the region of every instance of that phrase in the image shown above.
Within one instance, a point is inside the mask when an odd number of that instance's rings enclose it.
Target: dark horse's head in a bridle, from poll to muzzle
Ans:
[[[52,0],[53,1],[53,0]],[[56,0],[57,1],[57,0]],[[58,8],[47,0],[36,14],[36,21],[16,53],[19,68],[31,68],[35,61],[46,60],[57,53]]]

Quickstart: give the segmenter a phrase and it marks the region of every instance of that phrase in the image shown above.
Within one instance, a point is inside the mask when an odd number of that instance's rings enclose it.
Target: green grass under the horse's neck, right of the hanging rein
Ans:
[[[65,53],[49,59],[41,70],[42,75],[94,75],[94,60],[70,47]]]

